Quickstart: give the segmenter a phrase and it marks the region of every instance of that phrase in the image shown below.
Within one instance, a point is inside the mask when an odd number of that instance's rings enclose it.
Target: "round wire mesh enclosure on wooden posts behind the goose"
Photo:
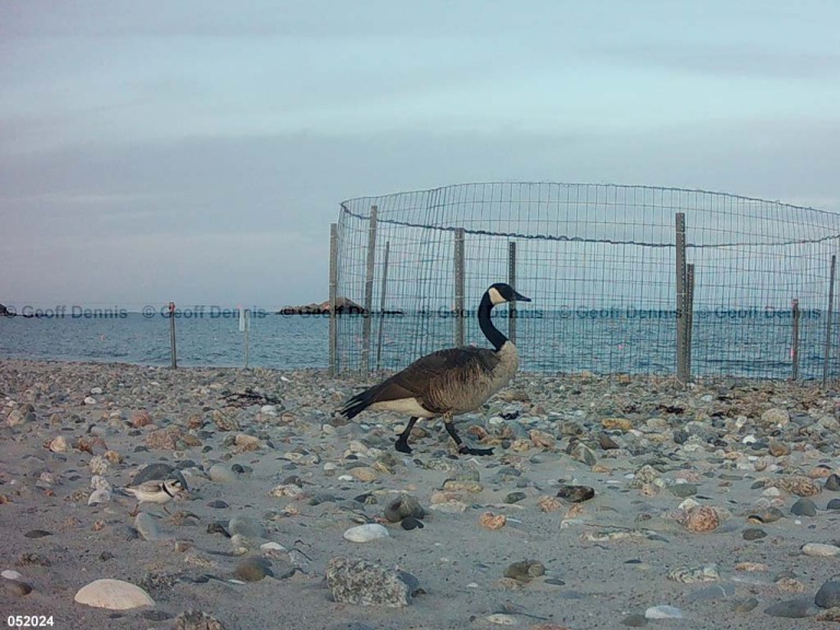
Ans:
[[[352,199],[330,292],[358,310],[331,319],[330,363],[393,371],[487,345],[478,301],[505,281],[534,300],[513,318],[494,312],[526,371],[833,377],[839,238],[833,213],[676,188],[490,183]]]

